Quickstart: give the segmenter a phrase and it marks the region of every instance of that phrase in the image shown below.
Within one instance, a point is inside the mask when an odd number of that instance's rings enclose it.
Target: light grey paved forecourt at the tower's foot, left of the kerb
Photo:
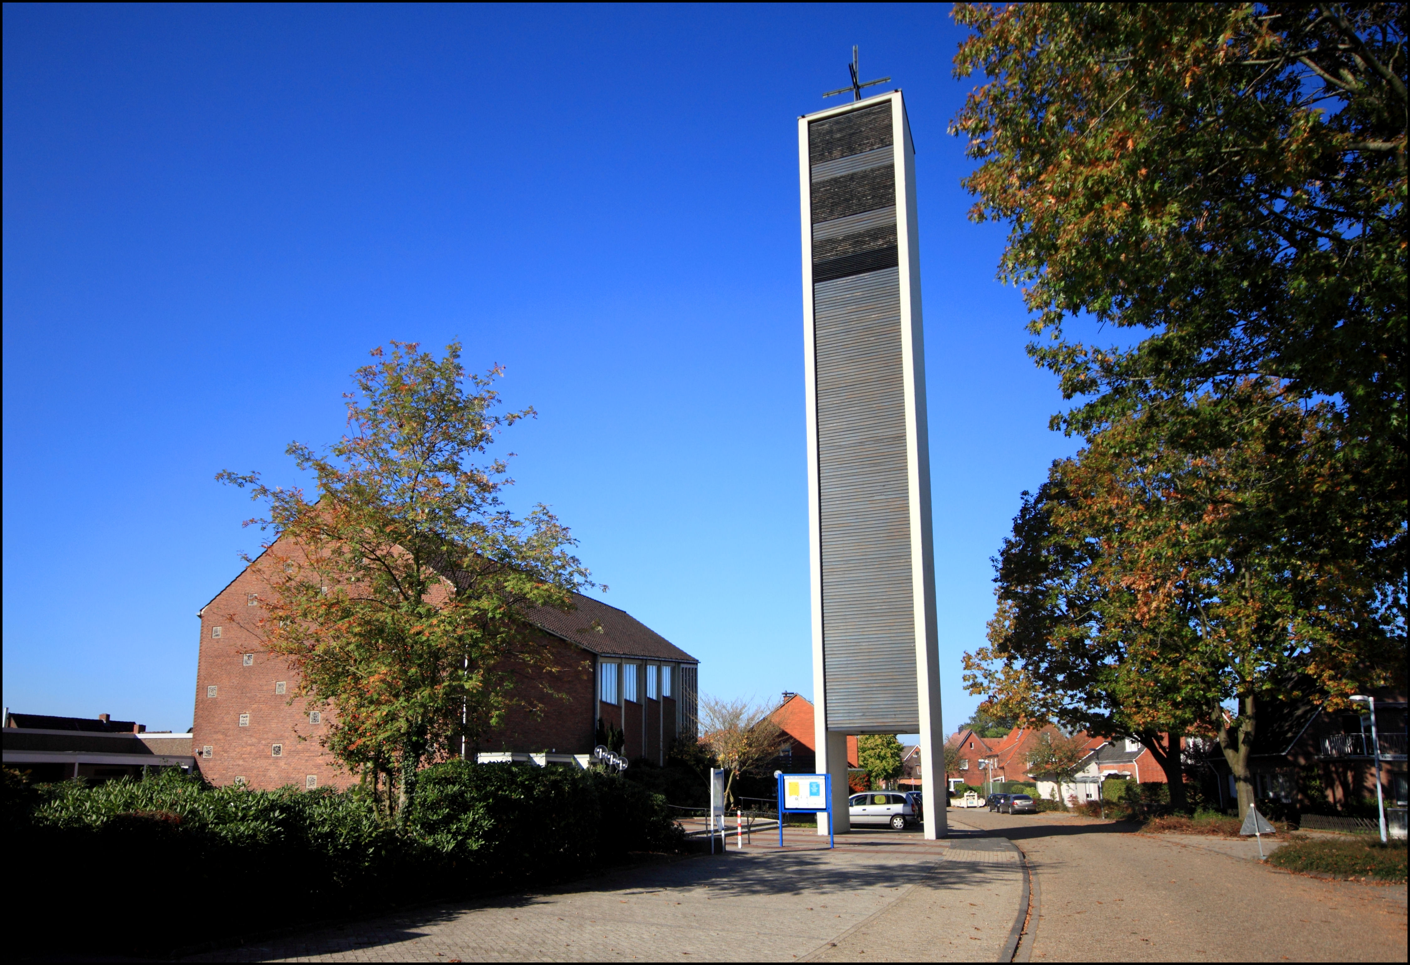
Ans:
[[[890,830],[811,830],[785,848],[627,868],[571,886],[448,903],[190,961],[1004,961],[1021,924],[1017,848]]]

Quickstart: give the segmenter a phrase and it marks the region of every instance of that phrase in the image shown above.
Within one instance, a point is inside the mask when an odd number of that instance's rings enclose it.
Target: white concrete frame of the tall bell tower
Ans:
[[[808,408],[808,549],[812,617],[812,677],[816,770],[832,776],[835,831],[847,831],[847,735],[828,729],[828,688],[823,663],[822,618],[822,505],[819,491],[818,375],[814,330],[812,281],[812,171],[808,126],[853,110],[891,104],[893,150],[895,151],[895,212],[898,275],[901,286],[902,384],[905,403],[907,484],[909,502],[911,581],[915,601],[915,667],[919,710],[922,800],[925,837],[948,832],[945,808],[943,746],[940,720],[940,673],[935,609],[933,529],[931,521],[931,453],[925,401],[925,334],[921,315],[921,254],[915,202],[915,148],[900,90],[860,102],[805,114],[798,119],[798,178],[802,229],[804,353]],[[828,834],[826,817],[819,815],[818,834]]]

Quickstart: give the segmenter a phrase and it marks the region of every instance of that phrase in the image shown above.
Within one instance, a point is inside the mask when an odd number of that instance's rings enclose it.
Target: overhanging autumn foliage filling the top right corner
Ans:
[[[976,220],[1090,432],[1277,380],[1404,461],[1403,3],[956,4]],[[1076,341],[1067,323],[1148,333]],[[1386,494],[1386,498],[1403,495]],[[1403,570],[1403,566],[1402,566]]]

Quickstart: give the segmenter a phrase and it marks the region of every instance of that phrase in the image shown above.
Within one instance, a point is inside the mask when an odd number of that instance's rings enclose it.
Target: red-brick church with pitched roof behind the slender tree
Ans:
[[[295,697],[288,662],[261,649],[259,600],[268,594],[254,566],[200,609],[196,714],[192,753],[214,784],[252,789],[347,787],[354,773],[338,767],[319,738],[333,711],[310,710]],[[543,712],[510,711],[485,735],[478,759],[587,766],[598,735],[620,731],[623,756],[664,763],[671,742],[697,736],[698,662],[630,614],[574,594],[577,609],[534,611],[530,622],[553,648],[561,670]],[[591,628],[591,629],[588,629]]]

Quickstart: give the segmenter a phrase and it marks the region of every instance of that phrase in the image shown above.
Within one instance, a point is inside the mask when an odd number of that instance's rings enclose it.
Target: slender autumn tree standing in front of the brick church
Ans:
[[[326,454],[288,449],[312,497],[258,473],[217,477],[268,508],[247,523],[274,536],[254,562],[271,588],[254,629],[310,707],[333,710],[324,746],[395,776],[399,814],[427,760],[460,753],[512,705],[558,697],[560,667],[526,615],[570,608],[588,583],[567,528],[543,505],[512,515],[505,463],[477,461],[533,411],[495,413],[499,370],[467,374],[460,354],[374,350],[345,396],[348,435]],[[530,676],[537,687],[516,686]]]

